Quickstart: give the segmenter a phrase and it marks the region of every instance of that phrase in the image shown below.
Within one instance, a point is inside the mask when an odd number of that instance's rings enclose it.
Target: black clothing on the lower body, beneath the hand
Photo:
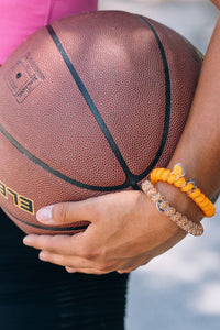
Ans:
[[[43,263],[0,209],[0,329],[124,329],[128,275],[68,274]]]

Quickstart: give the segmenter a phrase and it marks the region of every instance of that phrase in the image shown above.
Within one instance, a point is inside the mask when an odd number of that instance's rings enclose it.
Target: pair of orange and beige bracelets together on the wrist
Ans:
[[[150,180],[142,183],[142,190],[147,195],[147,197],[156,202],[157,210],[167,216],[172,221],[177,223],[186,232],[198,237],[204,233],[204,227],[201,223],[196,223],[189,220],[186,216],[176,211],[160,194],[155,188],[157,182],[168,183],[179,188],[182,191],[186,193],[189,198],[191,198],[196,205],[202,210],[205,217],[213,217],[216,213],[216,208],[213,204],[197,188],[195,180],[186,180],[185,169],[182,164],[176,164],[173,170],[167,168],[154,168],[151,172]]]

